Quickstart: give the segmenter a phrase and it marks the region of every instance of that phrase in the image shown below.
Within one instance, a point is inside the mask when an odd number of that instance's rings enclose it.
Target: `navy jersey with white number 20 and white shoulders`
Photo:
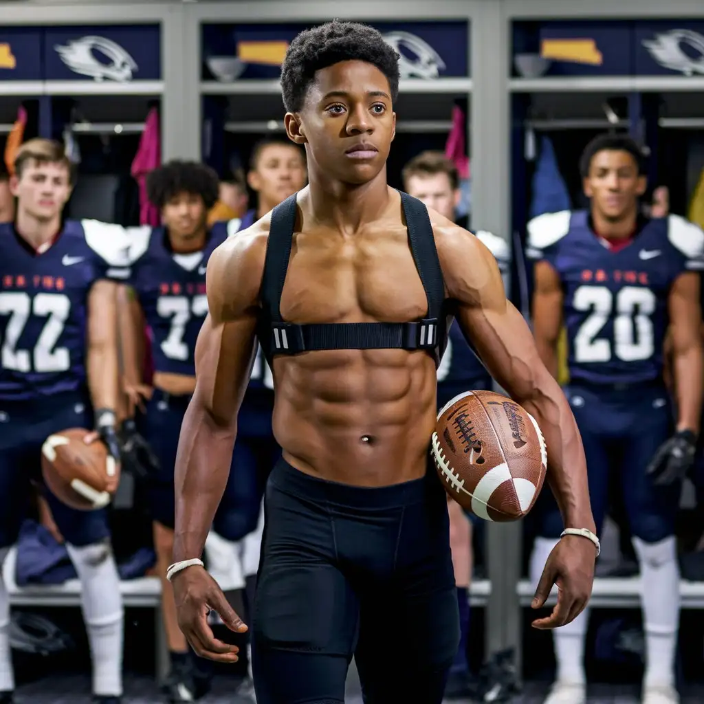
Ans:
[[[637,384],[662,377],[667,299],[679,275],[704,268],[704,232],[679,215],[648,220],[611,251],[585,211],[547,213],[528,225],[528,255],[558,272],[574,382]]]

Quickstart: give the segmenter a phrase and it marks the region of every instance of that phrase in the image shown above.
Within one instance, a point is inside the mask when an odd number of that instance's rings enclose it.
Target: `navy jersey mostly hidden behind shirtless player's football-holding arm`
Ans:
[[[491,234],[491,232],[479,231],[476,235],[496,258],[501,273],[508,272],[510,263],[508,242]],[[467,344],[456,320],[450,327],[447,347],[438,367],[437,377],[439,396],[443,397],[446,395],[443,393],[446,389],[449,393],[453,393],[456,389],[468,391],[479,388],[488,389],[491,386],[489,372],[472,352],[472,348]]]

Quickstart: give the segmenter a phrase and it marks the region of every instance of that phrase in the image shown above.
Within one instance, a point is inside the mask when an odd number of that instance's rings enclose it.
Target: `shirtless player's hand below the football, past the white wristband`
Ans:
[[[590,540],[573,535],[560,539],[545,563],[531,607],[543,607],[553,584],[558,586],[558,603],[551,615],[533,622],[534,628],[565,626],[582,613],[591,596],[595,562],[596,546]]]

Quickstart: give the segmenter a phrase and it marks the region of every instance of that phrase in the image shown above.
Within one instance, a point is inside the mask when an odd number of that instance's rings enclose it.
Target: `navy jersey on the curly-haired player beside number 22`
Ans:
[[[205,248],[189,254],[171,250],[163,227],[127,229],[131,263],[127,283],[137,295],[151,332],[155,372],[196,373],[196,340],[208,315],[208,258],[227,239],[231,222],[215,222]]]

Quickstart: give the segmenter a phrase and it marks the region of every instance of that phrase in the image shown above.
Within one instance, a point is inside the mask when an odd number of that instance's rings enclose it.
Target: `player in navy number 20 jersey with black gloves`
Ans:
[[[556,374],[555,344],[567,329],[570,384],[589,472],[598,530],[615,474],[641,565],[646,631],[644,704],[674,704],[679,574],[674,538],[681,479],[691,468],[702,403],[700,270],[704,233],[677,215],[639,215],[646,190],[643,156],[628,137],[606,135],[581,164],[587,212],[564,211],[529,222],[536,259],[534,334]],[[676,421],[663,382],[663,340],[670,330]],[[546,506],[532,574],[562,531]],[[555,632],[558,678],[550,704],[586,701],[586,612]]]

